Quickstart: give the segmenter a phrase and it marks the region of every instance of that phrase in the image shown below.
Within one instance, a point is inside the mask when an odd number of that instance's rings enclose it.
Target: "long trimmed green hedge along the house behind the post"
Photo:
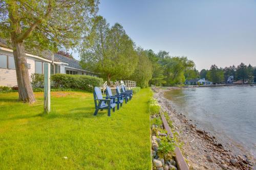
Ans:
[[[52,76],[52,83],[55,88],[72,88],[86,91],[93,91],[96,86],[101,86],[101,78],[84,75],[56,74]]]

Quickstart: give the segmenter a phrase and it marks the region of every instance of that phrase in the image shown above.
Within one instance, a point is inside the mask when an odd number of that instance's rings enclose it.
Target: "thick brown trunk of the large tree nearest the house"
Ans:
[[[34,103],[35,96],[29,79],[29,71],[24,43],[16,42],[12,37],[13,55],[16,67],[19,101]]]

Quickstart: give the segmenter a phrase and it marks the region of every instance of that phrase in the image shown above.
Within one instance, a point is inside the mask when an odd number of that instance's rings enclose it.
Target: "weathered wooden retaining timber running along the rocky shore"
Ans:
[[[161,119],[162,119],[162,122],[163,122],[163,126],[164,126],[164,129],[167,131],[167,135],[171,138],[174,137],[172,131],[170,131],[170,127],[166,121],[166,118],[164,116],[163,113],[160,113],[161,115]],[[179,147],[176,147],[175,148],[175,155],[176,155],[176,163],[177,163],[177,166],[178,166],[178,169],[180,170],[189,170],[188,166],[187,166],[187,163],[185,162],[185,159],[184,157],[182,156],[182,153],[179,149]]]

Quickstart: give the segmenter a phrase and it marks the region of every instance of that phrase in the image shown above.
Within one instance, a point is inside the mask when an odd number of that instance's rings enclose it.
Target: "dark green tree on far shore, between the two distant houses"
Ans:
[[[224,71],[217,67],[217,65],[211,65],[207,72],[206,78],[212,83],[222,83],[224,81]]]

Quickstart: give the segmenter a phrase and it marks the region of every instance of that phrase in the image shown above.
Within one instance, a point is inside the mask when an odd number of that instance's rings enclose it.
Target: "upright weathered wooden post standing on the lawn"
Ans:
[[[45,76],[45,93],[44,93],[44,110],[45,113],[49,113],[51,111],[51,67],[50,63],[44,63],[44,76]]]

